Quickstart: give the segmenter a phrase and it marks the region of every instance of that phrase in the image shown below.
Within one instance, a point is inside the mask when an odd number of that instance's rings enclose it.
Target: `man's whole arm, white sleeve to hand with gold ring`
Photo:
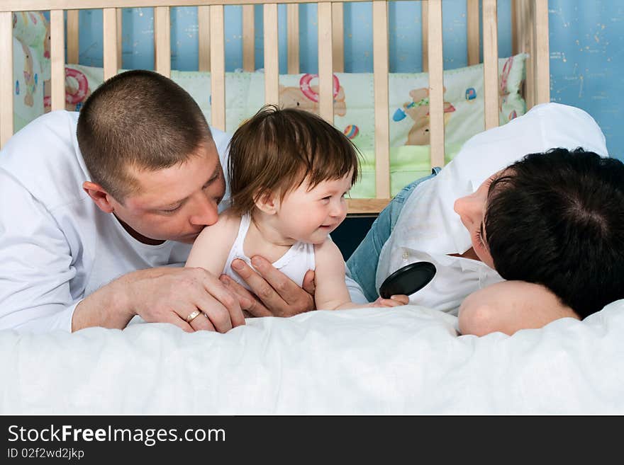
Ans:
[[[113,280],[89,296],[74,281],[71,248],[45,207],[0,171],[0,329],[43,333],[124,328],[135,315],[186,331],[244,324],[238,301],[205,270],[154,268]],[[70,285],[70,283],[72,283]],[[186,316],[195,309],[210,318]]]

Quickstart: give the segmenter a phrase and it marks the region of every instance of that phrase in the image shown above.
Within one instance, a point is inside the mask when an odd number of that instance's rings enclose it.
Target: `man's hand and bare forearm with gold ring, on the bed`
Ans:
[[[80,302],[72,330],[125,328],[134,315],[187,332],[225,333],[245,324],[238,299],[211,273],[201,268],[152,268],[128,273]]]

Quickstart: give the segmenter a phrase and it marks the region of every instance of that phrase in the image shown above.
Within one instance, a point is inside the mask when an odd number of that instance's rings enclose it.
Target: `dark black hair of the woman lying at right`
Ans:
[[[489,188],[486,243],[506,280],[544,285],[581,318],[624,297],[624,164],[530,154]]]

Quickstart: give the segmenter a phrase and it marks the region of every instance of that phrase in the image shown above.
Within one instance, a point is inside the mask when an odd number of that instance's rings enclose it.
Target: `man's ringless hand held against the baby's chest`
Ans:
[[[245,287],[221,275],[221,282],[238,297],[240,307],[251,316],[294,316],[314,307],[314,272],[308,270],[303,278],[303,289],[276,270],[260,256],[252,258],[251,268],[243,260],[232,262],[232,269],[251,287]]]

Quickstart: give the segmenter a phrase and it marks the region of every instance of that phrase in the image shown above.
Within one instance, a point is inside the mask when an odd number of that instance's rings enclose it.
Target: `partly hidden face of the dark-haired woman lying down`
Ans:
[[[455,200],[455,205],[453,206],[455,212],[459,214],[462,224],[464,224],[470,234],[470,241],[472,242],[474,253],[477,254],[479,260],[493,270],[495,269],[494,259],[490,255],[487,246],[484,217],[490,184],[493,180],[498,178],[498,176],[501,176],[502,172],[503,170],[498,171],[484,180],[473,194],[467,195],[466,197],[459,197],[459,199]]]

